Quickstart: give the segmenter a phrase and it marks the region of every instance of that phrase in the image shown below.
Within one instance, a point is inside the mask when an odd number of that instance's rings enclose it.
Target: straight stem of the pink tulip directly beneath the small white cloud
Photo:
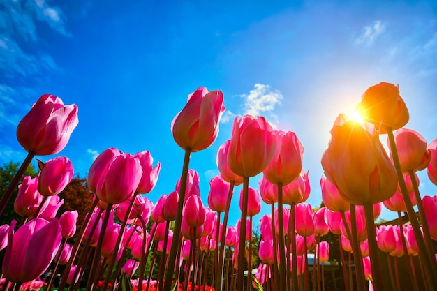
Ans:
[[[244,252],[246,251],[247,200],[249,200],[248,195],[249,177],[243,177],[242,218],[239,224],[238,241],[237,290],[244,290]]]

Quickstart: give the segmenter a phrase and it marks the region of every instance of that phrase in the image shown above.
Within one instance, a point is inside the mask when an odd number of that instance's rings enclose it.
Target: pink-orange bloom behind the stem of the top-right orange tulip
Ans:
[[[427,149],[427,140],[415,130],[406,128],[396,130],[394,132],[394,141],[396,142],[402,172],[421,171],[429,165],[431,151]],[[388,140],[387,144],[390,148]]]

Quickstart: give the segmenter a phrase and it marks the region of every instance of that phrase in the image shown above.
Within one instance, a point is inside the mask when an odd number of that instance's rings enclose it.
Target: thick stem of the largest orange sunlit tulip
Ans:
[[[384,290],[383,278],[381,277],[378,245],[376,244],[375,221],[373,220],[373,204],[364,204],[364,216],[366,217],[367,241],[369,242],[373,286],[375,290]]]

